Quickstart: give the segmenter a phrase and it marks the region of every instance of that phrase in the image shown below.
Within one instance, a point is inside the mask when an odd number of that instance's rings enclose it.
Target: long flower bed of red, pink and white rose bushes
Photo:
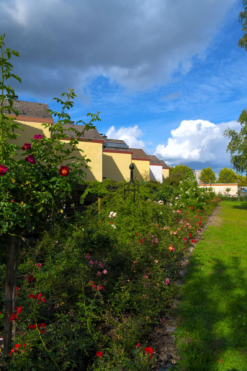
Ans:
[[[22,249],[11,313],[20,347],[3,370],[149,370],[159,351],[149,334],[162,326],[205,208],[219,203],[195,187],[182,184],[163,204],[152,185],[140,185],[133,203],[119,184],[100,209],[76,216],[70,235],[57,230],[56,238]]]

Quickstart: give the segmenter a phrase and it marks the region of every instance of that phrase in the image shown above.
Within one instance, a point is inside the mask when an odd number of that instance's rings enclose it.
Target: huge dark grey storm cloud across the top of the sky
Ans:
[[[143,90],[190,70],[234,3],[2,0],[0,33],[21,55],[14,61],[18,91],[54,96],[101,74]]]

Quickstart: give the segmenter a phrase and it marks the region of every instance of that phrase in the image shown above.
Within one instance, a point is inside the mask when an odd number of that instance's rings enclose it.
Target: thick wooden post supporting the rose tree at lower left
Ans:
[[[4,301],[4,331],[3,331],[3,349],[5,354],[9,353],[11,347],[12,322],[9,317],[12,311],[12,293],[14,280],[14,252],[15,238],[8,236],[6,252],[6,284]]]

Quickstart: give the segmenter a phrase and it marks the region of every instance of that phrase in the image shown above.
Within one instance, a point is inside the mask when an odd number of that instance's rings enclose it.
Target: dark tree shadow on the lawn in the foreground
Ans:
[[[226,263],[215,259],[213,269],[206,273],[192,256],[188,270],[182,301],[175,309],[180,323],[180,370],[247,370],[247,366],[243,368],[247,346],[243,314],[247,295],[240,260],[230,257]]]

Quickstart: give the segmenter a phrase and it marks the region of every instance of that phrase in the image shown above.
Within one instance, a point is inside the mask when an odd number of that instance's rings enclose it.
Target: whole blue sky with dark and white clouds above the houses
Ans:
[[[241,0],[1,0],[0,34],[17,50],[10,81],[23,101],[73,88],[74,121],[167,165],[231,167],[227,127],[247,106]]]

